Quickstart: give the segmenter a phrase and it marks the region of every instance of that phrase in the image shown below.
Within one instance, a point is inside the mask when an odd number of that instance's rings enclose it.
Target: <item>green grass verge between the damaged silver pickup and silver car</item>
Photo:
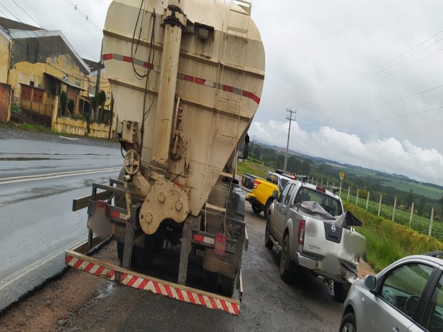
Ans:
[[[443,243],[435,237],[419,234],[350,203],[345,203],[345,210],[352,212],[363,222],[363,227],[357,227],[356,230],[365,236],[366,257],[377,272],[401,257],[443,251]]]

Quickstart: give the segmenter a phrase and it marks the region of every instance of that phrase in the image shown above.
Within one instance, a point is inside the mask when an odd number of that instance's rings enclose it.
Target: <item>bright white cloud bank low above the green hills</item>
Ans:
[[[296,123],[294,127],[297,127]],[[269,145],[285,147],[288,122],[253,122],[249,135]],[[394,137],[363,141],[355,134],[329,127],[318,131],[291,130],[293,151],[376,169],[389,174],[404,174],[419,181],[443,183],[443,155],[436,149],[423,149],[409,140]]]

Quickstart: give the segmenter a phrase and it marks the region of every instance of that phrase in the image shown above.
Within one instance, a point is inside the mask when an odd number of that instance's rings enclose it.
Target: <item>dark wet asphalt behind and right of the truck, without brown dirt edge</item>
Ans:
[[[246,203],[245,219],[249,246],[242,264],[239,316],[105,282],[79,311],[69,314],[60,331],[338,331],[343,304],[334,299],[327,284],[309,273],[284,283],[277,250],[264,246],[263,217]],[[188,269],[188,279],[189,274]]]

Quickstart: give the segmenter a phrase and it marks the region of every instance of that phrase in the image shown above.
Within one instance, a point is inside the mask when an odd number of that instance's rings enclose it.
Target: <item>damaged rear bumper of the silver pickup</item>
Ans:
[[[304,268],[311,270],[313,273],[316,273],[316,275],[320,275],[321,277],[329,280],[334,280],[334,282],[348,282],[352,284],[356,279],[358,279],[355,271],[351,271],[349,268],[343,266],[342,264],[338,266],[338,270],[340,271],[340,273],[334,275],[329,274],[326,270],[327,263],[325,262],[325,260],[312,259],[311,257],[306,257],[300,254],[300,252],[295,253],[294,261],[296,265],[303,266]]]

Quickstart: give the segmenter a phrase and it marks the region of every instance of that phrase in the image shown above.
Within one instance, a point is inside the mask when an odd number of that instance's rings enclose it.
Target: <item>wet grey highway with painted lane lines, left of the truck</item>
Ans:
[[[64,250],[87,238],[72,200],[121,165],[115,142],[0,129],[0,311],[62,271]]]

